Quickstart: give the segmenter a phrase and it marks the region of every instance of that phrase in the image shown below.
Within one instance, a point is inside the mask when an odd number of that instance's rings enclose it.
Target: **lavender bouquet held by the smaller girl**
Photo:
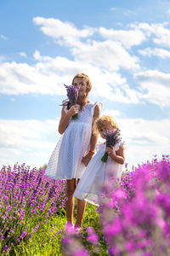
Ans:
[[[107,147],[110,147],[111,146],[115,146],[116,143],[121,143],[122,142],[122,137],[120,137],[121,134],[120,134],[120,130],[119,129],[116,129],[116,131],[107,131],[106,132],[106,135],[105,135],[105,138],[106,138],[106,148]],[[108,154],[107,152],[105,151],[105,154],[103,155],[103,157],[101,158],[101,160],[103,162],[106,162],[108,159]]]

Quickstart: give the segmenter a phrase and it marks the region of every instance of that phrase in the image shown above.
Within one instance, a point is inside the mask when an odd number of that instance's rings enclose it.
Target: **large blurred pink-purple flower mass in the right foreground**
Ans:
[[[148,161],[117,185],[108,181],[100,216],[111,255],[169,255],[169,183],[169,159]]]

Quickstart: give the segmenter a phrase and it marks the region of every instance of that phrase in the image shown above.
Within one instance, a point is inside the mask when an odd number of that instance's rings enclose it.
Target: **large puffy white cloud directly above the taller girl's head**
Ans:
[[[104,42],[92,41],[91,44],[84,44],[81,48],[72,49],[76,61],[90,63],[96,67],[109,70],[135,70],[139,68],[139,59],[131,56],[122,44],[106,40]]]

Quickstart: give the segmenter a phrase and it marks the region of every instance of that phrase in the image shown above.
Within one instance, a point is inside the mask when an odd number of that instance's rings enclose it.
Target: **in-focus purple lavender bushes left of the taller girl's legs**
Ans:
[[[22,239],[26,242],[31,239],[46,219],[54,216],[59,207],[65,207],[65,180],[45,177],[44,172],[44,169],[31,170],[24,164],[14,165],[14,169],[10,166],[0,169],[1,253],[7,245],[14,254],[13,247],[21,244]]]

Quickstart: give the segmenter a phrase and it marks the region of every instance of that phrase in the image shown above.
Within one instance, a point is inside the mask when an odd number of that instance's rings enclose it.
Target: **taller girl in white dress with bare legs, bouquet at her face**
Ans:
[[[98,135],[93,134],[94,119],[99,118],[101,104],[89,102],[88,94],[92,84],[88,76],[78,73],[72,80],[78,90],[77,104],[70,106],[70,102],[62,108],[59,121],[59,139],[51,155],[45,175],[54,179],[66,179],[65,203],[67,221],[73,224],[74,191],[77,182],[94,155]],[[77,119],[72,116],[78,114]],[[75,226],[81,228],[82,215],[86,201],[77,201],[77,222]]]

